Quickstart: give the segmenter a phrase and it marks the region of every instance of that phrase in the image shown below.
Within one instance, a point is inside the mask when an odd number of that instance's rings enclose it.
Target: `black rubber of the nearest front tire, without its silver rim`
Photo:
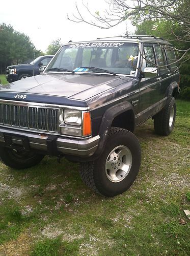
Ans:
[[[131,167],[127,176],[117,182],[113,182],[106,175],[106,160],[109,154],[117,146],[126,147],[131,153]],[[85,184],[94,192],[106,196],[114,197],[127,190],[139,173],[141,164],[141,147],[137,137],[128,130],[112,127],[107,135],[104,151],[100,157],[91,162],[80,163],[80,175]]]

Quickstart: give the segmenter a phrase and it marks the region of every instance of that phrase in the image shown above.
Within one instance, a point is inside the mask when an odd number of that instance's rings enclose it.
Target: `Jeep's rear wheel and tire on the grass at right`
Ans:
[[[171,97],[165,108],[154,116],[154,131],[158,135],[168,136],[173,128],[176,118],[175,98]]]

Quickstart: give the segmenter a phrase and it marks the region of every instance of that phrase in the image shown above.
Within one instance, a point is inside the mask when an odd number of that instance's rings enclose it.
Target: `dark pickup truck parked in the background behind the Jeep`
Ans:
[[[8,82],[15,82],[30,76],[40,74],[40,67],[47,66],[53,55],[39,56],[29,64],[12,65],[7,67],[6,79]]]

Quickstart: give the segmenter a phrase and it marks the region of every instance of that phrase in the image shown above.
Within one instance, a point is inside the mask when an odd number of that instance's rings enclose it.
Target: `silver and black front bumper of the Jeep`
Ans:
[[[5,140],[5,136],[10,139]],[[99,135],[87,138],[87,139],[75,139],[57,136],[56,140],[52,142],[52,148],[49,148],[51,144],[48,144],[48,140],[52,135],[38,134],[25,131],[17,131],[9,128],[0,127],[0,145],[10,148],[24,148],[23,137],[27,139],[28,146],[31,150],[41,151],[48,155],[49,150],[55,151],[50,155],[70,155],[77,157],[90,157],[92,156],[99,143]]]

